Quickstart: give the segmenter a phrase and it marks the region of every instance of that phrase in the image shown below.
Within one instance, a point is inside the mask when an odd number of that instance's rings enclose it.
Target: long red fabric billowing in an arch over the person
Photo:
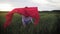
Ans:
[[[31,16],[35,19],[34,26],[36,26],[39,22],[39,13],[37,7],[15,8],[6,15],[6,22],[4,23],[4,28],[10,25],[14,13],[19,13],[24,16]]]

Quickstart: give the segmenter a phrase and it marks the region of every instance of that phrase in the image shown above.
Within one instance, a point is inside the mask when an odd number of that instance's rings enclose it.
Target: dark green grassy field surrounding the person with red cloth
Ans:
[[[59,13],[59,12],[58,12]],[[1,33],[5,34],[52,34],[56,33],[57,24],[59,23],[60,14],[57,12],[40,12],[40,22],[36,28],[30,24],[29,29],[22,26],[21,15],[15,13],[13,15],[11,25],[3,30],[3,23],[7,12],[0,12]]]

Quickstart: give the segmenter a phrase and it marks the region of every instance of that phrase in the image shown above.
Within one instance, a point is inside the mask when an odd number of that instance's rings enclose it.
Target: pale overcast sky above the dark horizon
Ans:
[[[0,0],[0,10],[7,10],[7,4],[9,5],[8,8],[10,7],[9,11],[13,8],[20,8],[25,6],[36,6],[38,7],[39,11],[60,10],[60,0]],[[4,5],[5,8],[2,5]]]

